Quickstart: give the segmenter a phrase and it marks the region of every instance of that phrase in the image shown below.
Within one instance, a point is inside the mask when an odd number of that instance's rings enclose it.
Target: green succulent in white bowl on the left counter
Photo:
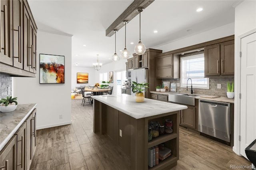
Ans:
[[[6,99],[0,100],[0,111],[1,112],[11,112],[17,108],[18,102],[17,97],[12,98],[12,96],[7,96]]]

